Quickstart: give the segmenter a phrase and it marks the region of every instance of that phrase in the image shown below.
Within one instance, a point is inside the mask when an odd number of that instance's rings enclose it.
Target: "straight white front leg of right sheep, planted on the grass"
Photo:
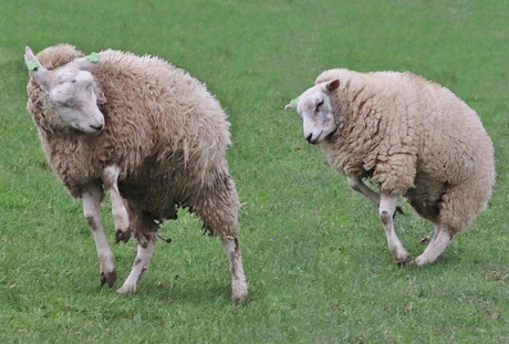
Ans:
[[[408,261],[408,252],[403,247],[399,238],[397,238],[396,231],[394,230],[393,215],[396,211],[396,207],[397,197],[389,197],[385,194],[381,195],[378,215],[380,220],[384,225],[388,250],[397,263],[405,263]]]

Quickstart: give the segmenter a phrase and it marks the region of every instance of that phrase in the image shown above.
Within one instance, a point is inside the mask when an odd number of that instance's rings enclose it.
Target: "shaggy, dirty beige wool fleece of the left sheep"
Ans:
[[[55,69],[83,55],[60,44],[37,56]],[[134,229],[153,231],[154,221],[175,219],[176,207],[188,207],[211,234],[237,234],[240,202],[226,161],[229,123],[206,86],[164,60],[121,51],[98,61],[92,74],[105,118],[97,135],[69,128],[39,85],[28,85],[28,110],[48,161],[71,195],[80,198],[86,183],[117,165]]]

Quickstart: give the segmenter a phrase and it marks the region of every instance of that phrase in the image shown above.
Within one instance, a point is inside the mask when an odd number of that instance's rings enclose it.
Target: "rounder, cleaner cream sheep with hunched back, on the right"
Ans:
[[[409,72],[333,69],[289,107],[302,117],[305,139],[378,207],[397,263],[434,262],[486,208],[496,177],[494,146],[476,112],[448,88]],[[394,230],[402,197],[435,227],[412,261]]]

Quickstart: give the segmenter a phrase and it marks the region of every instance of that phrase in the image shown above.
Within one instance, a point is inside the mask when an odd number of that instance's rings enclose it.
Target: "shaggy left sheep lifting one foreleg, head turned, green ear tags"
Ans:
[[[100,260],[101,284],[116,280],[101,220],[110,190],[115,236],[133,233],[137,253],[117,290],[136,291],[159,225],[188,208],[220,238],[232,275],[232,299],[247,298],[238,212],[229,175],[229,123],[205,84],[163,59],[106,50],[85,54],[66,43],[35,56],[27,46],[28,110],[46,160],[66,190],[83,201]]]

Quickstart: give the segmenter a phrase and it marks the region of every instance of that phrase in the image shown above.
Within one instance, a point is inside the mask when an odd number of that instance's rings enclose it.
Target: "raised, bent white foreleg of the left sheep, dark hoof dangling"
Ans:
[[[110,198],[112,200],[112,215],[115,223],[115,238],[116,242],[127,242],[131,238],[129,216],[124,204],[124,199],[118,191],[118,175],[121,169],[118,166],[108,166],[103,171],[103,183],[110,190]]]

